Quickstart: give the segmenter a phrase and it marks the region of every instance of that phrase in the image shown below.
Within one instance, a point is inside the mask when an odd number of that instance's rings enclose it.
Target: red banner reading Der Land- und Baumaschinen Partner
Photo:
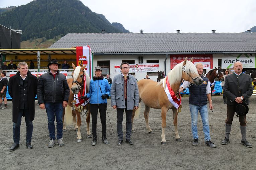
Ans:
[[[193,58],[193,63],[202,63],[204,69],[212,69],[212,54],[171,54],[171,69],[174,66],[184,61],[186,58],[190,60]]]

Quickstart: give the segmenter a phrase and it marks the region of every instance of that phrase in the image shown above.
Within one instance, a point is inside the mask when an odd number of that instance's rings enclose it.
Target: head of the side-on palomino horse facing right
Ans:
[[[183,61],[182,78],[190,83],[195,83],[200,86],[203,84],[203,79],[200,77],[196,66],[191,61],[192,59],[188,61],[187,58]]]

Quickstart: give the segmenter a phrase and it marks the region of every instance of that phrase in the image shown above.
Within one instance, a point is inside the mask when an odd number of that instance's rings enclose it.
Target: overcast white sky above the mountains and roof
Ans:
[[[131,32],[243,32],[256,25],[255,0],[81,0]],[[0,8],[31,0],[0,0]]]

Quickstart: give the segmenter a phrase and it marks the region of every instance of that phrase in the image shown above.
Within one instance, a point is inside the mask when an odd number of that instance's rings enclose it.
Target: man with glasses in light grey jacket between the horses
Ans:
[[[139,107],[139,90],[134,76],[129,74],[129,64],[122,62],[121,74],[113,78],[111,87],[111,106],[117,111],[117,145],[123,143],[123,112],[126,114],[126,140],[125,142],[132,145],[132,113],[133,109]]]

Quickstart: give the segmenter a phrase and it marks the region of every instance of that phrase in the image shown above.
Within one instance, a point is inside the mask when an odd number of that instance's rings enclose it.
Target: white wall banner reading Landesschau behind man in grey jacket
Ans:
[[[129,64],[129,73],[135,72],[157,72],[159,70],[159,63],[148,64]],[[120,66],[115,66],[115,73],[121,73]]]

